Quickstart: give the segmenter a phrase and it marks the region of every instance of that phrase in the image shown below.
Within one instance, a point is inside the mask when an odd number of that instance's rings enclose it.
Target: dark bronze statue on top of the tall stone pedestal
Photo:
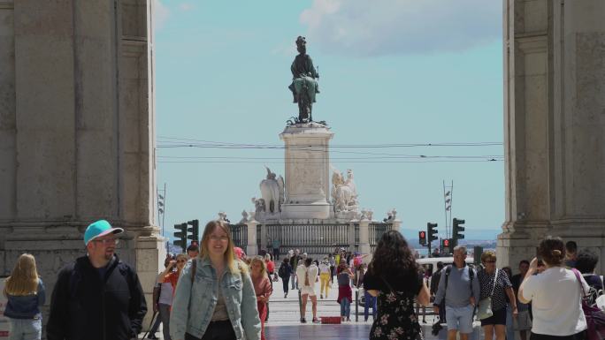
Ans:
[[[315,102],[315,94],[319,93],[318,80],[319,74],[313,67],[313,61],[307,54],[307,41],[303,36],[296,39],[296,49],[298,56],[295,57],[290,70],[292,71],[292,84],[288,87],[294,95],[294,102],[298,103],[298,119],[303,122],[310,119],[311,105]],[[301,101],[302,91],[307,92],[307,101]]]

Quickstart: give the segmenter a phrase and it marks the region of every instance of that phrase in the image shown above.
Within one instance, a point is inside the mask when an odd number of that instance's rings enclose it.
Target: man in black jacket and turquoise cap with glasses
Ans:
[[[139,276],[114,253],[119,240],[104,220],[84,233],[87,255],[58,274],[46,325],[48,340],[135,338],[147,313]]]

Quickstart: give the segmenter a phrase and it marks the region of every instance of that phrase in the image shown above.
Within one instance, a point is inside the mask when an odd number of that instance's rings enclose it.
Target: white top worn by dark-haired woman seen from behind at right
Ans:
[[[580,280],[584,291],[588,291],[588,284],[582,276]],[[521,287],[523,298],[532,301],[532,333],[571,336],[586,329],[580,286],[570,269],[548,268],[525,279]]]

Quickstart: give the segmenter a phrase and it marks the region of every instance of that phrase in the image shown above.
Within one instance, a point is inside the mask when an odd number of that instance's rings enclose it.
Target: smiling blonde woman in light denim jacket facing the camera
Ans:
[[[172,301],[172,340],[260,339],[257,295],[248,267],[235,260],[229,227],[211,221],[201,252],[183,268]]]

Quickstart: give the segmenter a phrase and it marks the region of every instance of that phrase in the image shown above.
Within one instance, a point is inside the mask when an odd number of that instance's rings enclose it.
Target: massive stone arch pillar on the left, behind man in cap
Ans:
[[[104,218],[126,230],[117,253],[137,269],[150,309],[165,256],[154,218],[150,3],[0,4],[4,275],[33,253],[50,294],[57,271],[85,254],[82,232]]]

